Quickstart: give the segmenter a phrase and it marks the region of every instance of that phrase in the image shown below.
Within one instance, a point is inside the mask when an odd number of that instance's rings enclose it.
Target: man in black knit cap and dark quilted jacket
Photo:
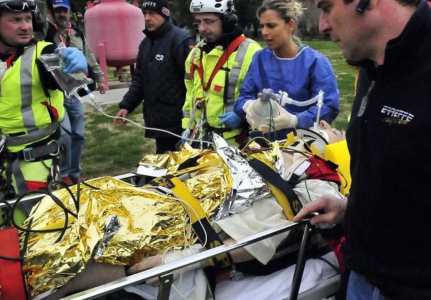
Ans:
[[[132,85],[119,103],[117,117],[126,117],[143,101],[146,126],[181,134],[181,118],[186,86],[184,62],[194,45],[192,37],[172,24],[167,0],[143,2],[146,38],[139,45]],[[123,119],[115,123],[125,124]],[[180,140],[172,134],[146,130],[156,139],[157,154],[175,150]]]

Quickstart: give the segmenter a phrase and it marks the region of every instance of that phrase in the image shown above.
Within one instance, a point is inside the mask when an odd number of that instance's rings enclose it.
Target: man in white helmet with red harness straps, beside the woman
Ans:
[[[191,132],[217,132],[232,143],[241,143],[246,122],[233,107],[253,54],[261,46],[243,36],[233,1],[192,0],[190,12],[203,41],[186,60],[184,135],[205,139],[204,134],[198,137]]]

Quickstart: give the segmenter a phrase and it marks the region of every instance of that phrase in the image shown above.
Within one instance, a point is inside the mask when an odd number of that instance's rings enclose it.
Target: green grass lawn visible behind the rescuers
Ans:
[[[337,76],[340,90],[341,112],[334,126],[345,130],[354,97],[354,70],[341,55],[341,51],[330,41],[303,41],[306,45],[325,54]],[[261,41],[261,45],[265,43]],[[114,68],[108,70],[110,81],[116,80]],[[104,106],[110,115],[117,114],[118,105]],[[154,139],[144,138],[145,130],[132,124],[114,126],[112,119],[86,106],[86,145],[83,150],[81,175],[94,178],[117,175],[136,170],[143,155],[155,153]],[[142,107],[139,106],[130,119],[143,124]]]

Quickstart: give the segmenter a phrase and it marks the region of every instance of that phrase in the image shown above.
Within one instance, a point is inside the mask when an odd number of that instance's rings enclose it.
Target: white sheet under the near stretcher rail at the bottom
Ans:
[[[338,266],[334,252],[323,255],[323,258]],[[295,266],[290,266],[267,276],[247,276],[238,282],[223,281],[217,283],[216,299],[271,299],[280,300],[288,298],[292,288],[292,278]],[[325,279],[333,277],[337,272],[319,259],[308,259],[305,263],[303,278],[299,292],[309,290]],[[174,281],[174,287],[170,291],[170,300],[203,300],[206,299],[207,284],[202,270],[194,270]],[[125,288],[128,292],[134,292],[145,299],[157,299],[158,287],[139,284]],[[181,295],[179,294],[181,293]],[[208,298],[207,298],[208,299]]]

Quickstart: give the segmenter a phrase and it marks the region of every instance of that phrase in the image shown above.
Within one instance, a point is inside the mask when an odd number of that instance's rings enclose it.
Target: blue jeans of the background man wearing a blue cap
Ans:
[[[61,139],[66,146],[66,155],[61,157],[60,174],[61,177],[79,177],[84,147],[84,112],[82,103],[75,97],[64,97],[64,108],[66,111],[61,122]]]

